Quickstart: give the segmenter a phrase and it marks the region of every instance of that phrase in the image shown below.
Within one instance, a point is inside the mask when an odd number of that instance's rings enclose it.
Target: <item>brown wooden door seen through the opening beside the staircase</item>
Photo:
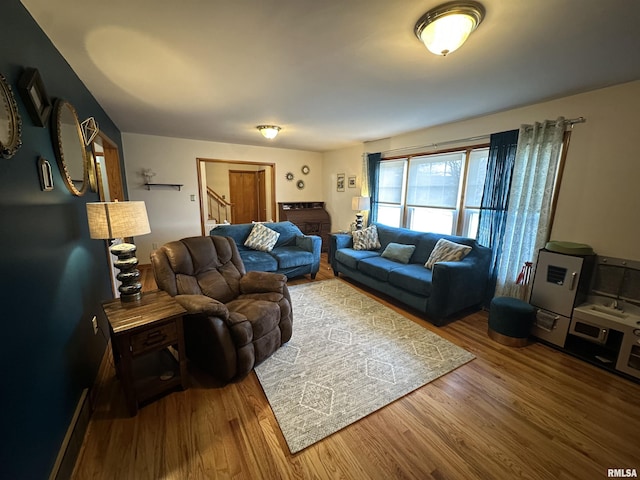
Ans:
[[[251,223],[266,220],[264,170],[229,170],[231,222]]]

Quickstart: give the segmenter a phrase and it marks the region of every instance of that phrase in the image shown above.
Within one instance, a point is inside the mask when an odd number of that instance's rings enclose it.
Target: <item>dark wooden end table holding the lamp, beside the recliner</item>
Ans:
[[[137,302],[105,302],[102,309],[131,416],[138,413],[139,402],[176,387],[189,388],[182,329],[187,311],[173,297],[156,290],[143,293]]]

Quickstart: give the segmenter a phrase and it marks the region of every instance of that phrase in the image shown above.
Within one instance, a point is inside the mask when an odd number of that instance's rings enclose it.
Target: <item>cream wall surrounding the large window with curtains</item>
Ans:
[[[583,116],[576,125],[558,198],[551,238],[591,245],[605,256],[640,260],[640,81],[529,107],[424,129],[364,144],[362,151],[431,145],[516,129],[558,116]],[[336,193],[335,174],[360,170],[361,150],[325,153],[325,198],[333,229],[351,222],[349,192]],[[348,214],[347,214],[348,213]]]

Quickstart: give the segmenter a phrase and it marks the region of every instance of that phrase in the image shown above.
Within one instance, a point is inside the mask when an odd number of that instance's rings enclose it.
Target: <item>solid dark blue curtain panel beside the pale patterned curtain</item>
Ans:
[[[490,281],[485,296],[486,305],[491,302],[496,289],[498,259],[502,254],[517,146],[518,130],[491,135],[477,237],[478,243],[492,250]]]

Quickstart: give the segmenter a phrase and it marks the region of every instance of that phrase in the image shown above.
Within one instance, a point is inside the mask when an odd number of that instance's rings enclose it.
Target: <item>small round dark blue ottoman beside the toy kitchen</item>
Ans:
[[[495,297],[489,308],[489,337],[510,347],[524,347],[536,316],[527,302],[511,297]]]

